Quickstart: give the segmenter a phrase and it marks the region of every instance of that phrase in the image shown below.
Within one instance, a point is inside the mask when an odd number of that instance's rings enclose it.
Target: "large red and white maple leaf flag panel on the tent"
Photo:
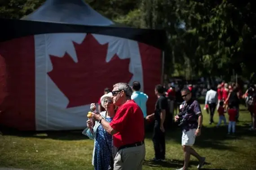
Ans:
[[[141,82],[154,112],[161,50],[98,34],[40,34],[0,43],[0,123],[20,130],[86,126],[90,103],[117,82]]]

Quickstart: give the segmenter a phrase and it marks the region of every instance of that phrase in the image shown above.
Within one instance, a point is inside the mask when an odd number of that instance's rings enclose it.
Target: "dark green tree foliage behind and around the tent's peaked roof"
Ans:
[[[45,0],[0,0],[0,17],[21,18]],[[255,78],[256,14],[250,0],[85,0],[117,23],[164,29],[165,72],[193,78]]]

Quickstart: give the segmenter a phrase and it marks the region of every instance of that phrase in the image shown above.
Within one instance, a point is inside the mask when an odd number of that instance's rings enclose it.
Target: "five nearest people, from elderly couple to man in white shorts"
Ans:
[[[92,164],[95,170],[142,170],[145,160],[145,121],[154,119],[153,144],[155,157],[151,161],[165,160],[165,117],[169,114],[168,97],[163,85],[156,85],[157,96],[155,111],[146,113],[148,96],[140,92],[140,83],[134,81],[132,87],[126,83],[117,83],[112,92],[104,90],[99,99],[98,110],[93,113],[94,122],[88,120],[83,134],[94,140]],[[175,121],[183,122],[182,146],[184,166],[186,170],[190,155],[199,160],[198,168],[205,162],[205,157],[192,148],[195,137],[201,134],[203,115],[200,105],[192,99],[190,89],[181,90],[183,115],[175,117]]]

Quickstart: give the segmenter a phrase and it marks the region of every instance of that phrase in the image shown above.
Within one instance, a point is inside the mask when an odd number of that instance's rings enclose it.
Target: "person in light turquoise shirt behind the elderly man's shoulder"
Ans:
[[[146,116],[147,116],[146,103],[147,103],[147,100],[148,100],[148,95],[146,95],[143,92],[140,92],[140,89],[141,89],[140,82],[139,81],[133,81],[133,83],[132,83],[133,93],[132,93],[131,99],[134,100],[134,102],[136,102],[137,105],[140,106],[140,108],[143,112],[144,119],[145,119]]]

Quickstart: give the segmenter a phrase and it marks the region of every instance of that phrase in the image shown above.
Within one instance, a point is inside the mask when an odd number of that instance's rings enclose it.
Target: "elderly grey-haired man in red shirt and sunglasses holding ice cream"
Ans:
[[[141,108],[131,100],[132,88],[126,83],[113,85],[113,103],[118,106],[111,123],[93,114],[93,119],[113,135],[113,144],[118,148],[114,170],[142,170],[146,149],[144,145],[144,118]]]

